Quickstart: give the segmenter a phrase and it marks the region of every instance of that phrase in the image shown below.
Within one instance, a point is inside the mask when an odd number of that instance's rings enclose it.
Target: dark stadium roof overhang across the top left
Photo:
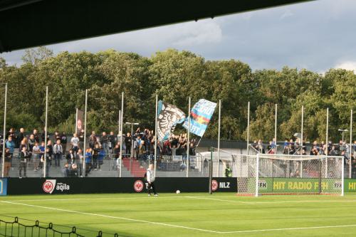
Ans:
[[[0,53],[303,1],[0,0]]]

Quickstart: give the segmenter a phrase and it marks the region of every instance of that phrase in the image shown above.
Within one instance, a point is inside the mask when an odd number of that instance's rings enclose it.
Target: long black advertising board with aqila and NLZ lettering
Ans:
[[[6,180],[6,179],[0,179]],[[89,177],[89,178],[9,178],[7,194],[117,194],[146,192],[145,179],[134,177]],[[208,192],[207,177],[157,177],[155,186],[159,193]],[[213,178],[213,191],[236,192],[236,178]]]

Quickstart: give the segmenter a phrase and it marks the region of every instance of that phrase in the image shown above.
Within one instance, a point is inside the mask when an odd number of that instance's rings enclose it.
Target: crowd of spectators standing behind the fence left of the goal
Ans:
[[[121,153],[123,158],[132,157],[140,161],[154,159],[155,154],[154,132],[147,128],[141,131],[139,127],[133,135],[130,132],[123,135],[122,150],[120,135],[112,131],[100,135],[91,132],[85,147],[84,130],[70,137],[66,132],[54,132],[53,135],[47,135],[47,141],[45,138],[45,130],[41,134],[36,129],[26,133],[23,128],[19,132],[11,128],[5,140],[1,137],[1,156],[5,144],[4,176],[9,177],[9,171],[18,166],[20,178],[26,177],[29,170],[41,172],[42,169],[46,169],[46,176],[51,177],[51,167],[61,169],[63,177],[86,177],[93,170],[101,171],[105,159],[114,159],[117,168]],[[187,146],[186,134],[171,135],[167,141],[157,142],[157,159],[182,157],[186,160]],[[195,155],[195,148],[196,140],[192,139],[189,141],[190,155]]]

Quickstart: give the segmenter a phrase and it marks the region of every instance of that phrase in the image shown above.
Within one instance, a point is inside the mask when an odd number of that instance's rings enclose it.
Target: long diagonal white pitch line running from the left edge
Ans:
[[[168,223],[160,223],[160,222],[155,222],[155,221],[144,221],[144,220],[137,220],[137,219],[132,219],[132,218],[125,218],[125,217],[119,217],[119,216],[108,216],[108,215],[103,215],[103,214],[93,214],[90,212],[82,212],[82,211],[72,211],[72,210],[66,210],[66,209],[56,209],[54,207],[48,207],[48,206],[38,206],[38,205],[31,205],[31,204],[21,204],[21,203],[16,203],[12,201],[1,201],[7,204],[15,204],[15,205],[23,205],[23,206],[31,206],[31,207],[36,207],[36,208],[41,208],[41,209],[50,209],[50,210],[55,210],[55,211],[67,211],[75,214],[83,214],[83,215],[90,215],[90,216],[101,216],[101,217],[106,217],[106,218],[115,218],[115,219],[120,219],[120,220],[125,220],[125,221],[136,221],[136,222],[141,222],[141,223],[150,223],[150,224],[155,224],[155,225],[160,225],[160,226],[169,226],[169,227],[175,227],[175,228],[185,228],[193,231],[204,231],[204,232],[210,232],[210,233],[221,233],[220,231],[210,231],[210,230],[205,230],[202,228],[192,228],[192,227],[187,227],[187,226],[177,226],[177,225],[172,225]]]

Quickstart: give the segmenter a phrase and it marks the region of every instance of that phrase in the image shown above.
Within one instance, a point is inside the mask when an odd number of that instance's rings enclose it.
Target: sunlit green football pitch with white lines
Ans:
[[[356,195],[203,193],[0,197],[0,218],[83,236],[356,236]],[[21,219],[22,218],[22,219]]]

